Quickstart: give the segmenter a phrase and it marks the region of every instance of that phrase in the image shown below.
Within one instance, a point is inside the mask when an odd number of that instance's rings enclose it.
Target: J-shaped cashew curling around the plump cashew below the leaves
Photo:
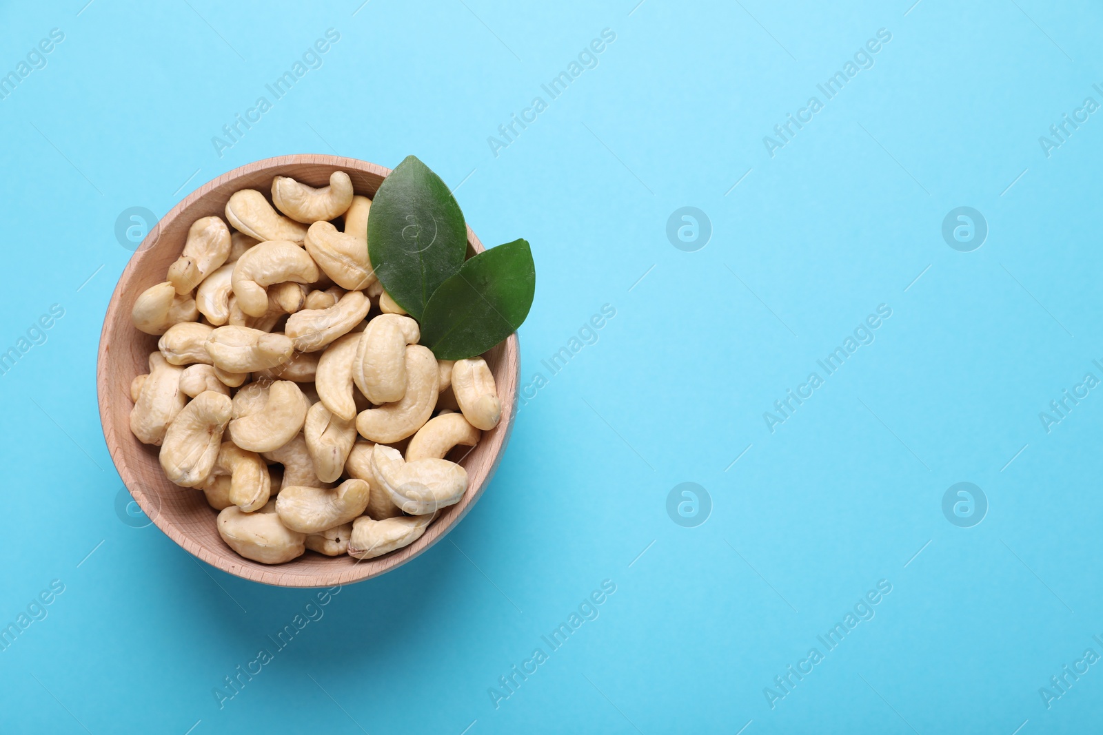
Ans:
[[[397,442],[425,425],[437,403],[440,374],[437,358],[428,347],[406,348],[406,394],[397,403],[361,411],[356,431],[373,442]]]

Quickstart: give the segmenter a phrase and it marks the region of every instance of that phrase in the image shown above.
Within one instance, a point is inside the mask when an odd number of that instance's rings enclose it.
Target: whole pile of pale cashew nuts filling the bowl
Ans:
[[[196,220],[138,296],[135,326],[160,341],[130,385],[130,429],[205,494],[242,556],[379,556],[463,497],[467,471],[445,457],[497,425],[494,377],[418,344],[372,270],[372,202],[347,174],[323,188],[277,176],[271,194],[275,208],[231,196],[229,226]]]

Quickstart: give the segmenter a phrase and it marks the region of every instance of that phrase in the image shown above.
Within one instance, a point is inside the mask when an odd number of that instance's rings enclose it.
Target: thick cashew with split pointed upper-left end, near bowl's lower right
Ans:
[[[376,444],[372,472],[390,500],[413,516],[425,516],[454,505],[468,489],[468,471],[448,460],[406,462],[393,446]]]

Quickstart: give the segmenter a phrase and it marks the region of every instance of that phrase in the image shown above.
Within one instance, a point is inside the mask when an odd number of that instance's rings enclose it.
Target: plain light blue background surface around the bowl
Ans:
[[[1049,433],[1038,417],[1103,378],[1103,112],[1049,158],[1038,142],[1103,102],[1097,3],[361,1],[0,10],[4,73],[65,34],[0,100],[0,348],[65,310],[0,377],[0,625],[65,585],[0,652],[0,731],[1099,727],[1103,666],[1050,709],[1038,691],[1103,653],[1103,392]],[[323,66],[219,158],[211,138],[330,28]],[[607,28],[598,67],[549,100]],[[771,158],[763,136],[882,28],[875,66]],[[548,109],[495,156],[488,137],[537,95]],[[548,382],[445,541],[342,590],[219,709],[212,690],[311,593],[120,520],[96,348],[130,256],[120,212],[300,152],[416,153],[462,182],[484,242],[527,238],[523,374]],[[682,206],[711,220],[696,252],[666,238]],[[957,206],[987,220],[978,250],[942,239]],[[597,344],[552,376],[540,360],[603,304]],[[763,412],[879,304],[876,342],[771,433]],[[683,482],[711,497],[697,528],[666,512]],[[942,514],[957,482],[987,496],[978,526]],[[540,636],[603,580],[600,617],[550,652]],[[876,617],[771,709],[763,688],[879,580]],[[489,688],[536,647],[548,660],[495,709]]]

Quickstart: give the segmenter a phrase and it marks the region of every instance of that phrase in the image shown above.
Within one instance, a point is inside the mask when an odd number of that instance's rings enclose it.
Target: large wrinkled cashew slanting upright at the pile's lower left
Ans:
[[[218,458],[229,411],[229,397],[208,390],[196,396],[169,424],[161,444],[161,468],[171,482],[197,487],[206,480]]]

